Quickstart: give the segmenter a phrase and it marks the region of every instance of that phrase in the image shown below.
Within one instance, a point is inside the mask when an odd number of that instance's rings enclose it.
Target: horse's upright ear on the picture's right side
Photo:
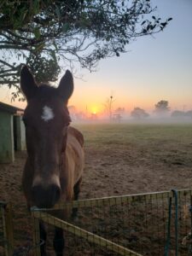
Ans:
[[[73,94],[73,75],[67,70],[64,76],[61,78],[58,86],[59,94],[61,95],[64,102],[67,102],[70,96]]]

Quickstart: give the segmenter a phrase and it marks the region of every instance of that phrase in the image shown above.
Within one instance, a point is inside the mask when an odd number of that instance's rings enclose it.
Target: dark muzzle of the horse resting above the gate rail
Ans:
[[[32,201],[38,208],[52,208],[61,197],[61,188],[50,184],[44,188],[41,184],[32,187]]]

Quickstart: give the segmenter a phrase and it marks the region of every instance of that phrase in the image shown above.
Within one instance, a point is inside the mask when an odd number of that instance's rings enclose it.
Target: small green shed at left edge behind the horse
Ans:
[[[0,102],[0,163],[15,160],[15,150],[26,149],[23,109]]]

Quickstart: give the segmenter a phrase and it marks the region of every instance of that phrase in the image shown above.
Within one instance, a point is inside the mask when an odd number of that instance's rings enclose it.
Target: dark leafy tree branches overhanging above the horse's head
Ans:
[[[94,70],[99,60],[119,56],[132,40],[172,20],[162,21],[154,10],[149,0],[2,0],[0,84],[17,87],[23,64],[38,81],[55,81],[61,63]]]

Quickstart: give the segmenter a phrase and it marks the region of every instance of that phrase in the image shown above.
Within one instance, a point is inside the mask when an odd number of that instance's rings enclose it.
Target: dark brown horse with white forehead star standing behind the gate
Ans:
[[[27,159],[22,184],[28,207],[54,207],[58,201],[78,199],[84,168],[84,137],[70,127],[67,101],[73,93],[73,76],[68,70],[58,88],[36,84],[32,73],[23,67],[21,90],[27,106],[23,115],[26,125]],[[46,241],[44,224],[41,239]],[[55,228],[56,255],[63,255],[64,238]],[[46,255],[45,245],[41,254]]]

